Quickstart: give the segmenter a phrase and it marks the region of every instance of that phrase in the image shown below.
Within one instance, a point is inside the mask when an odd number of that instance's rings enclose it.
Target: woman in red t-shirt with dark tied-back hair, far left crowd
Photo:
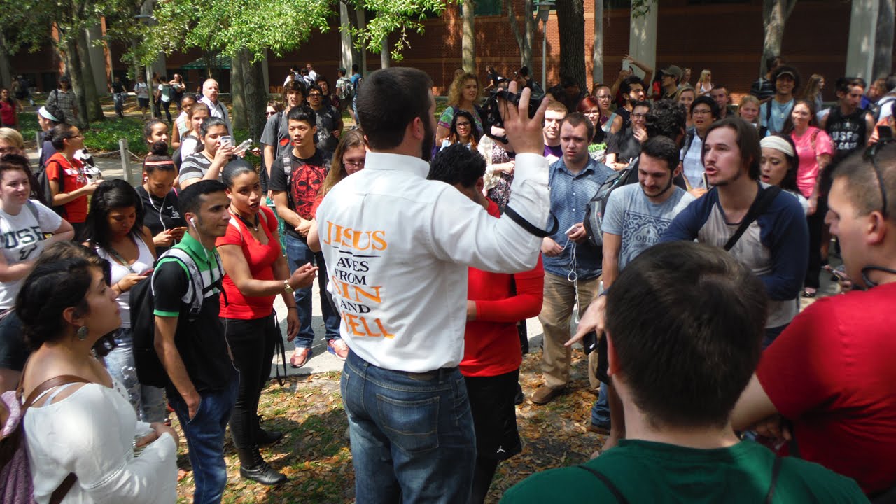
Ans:
[[[75,159],[74,152],[84,148],[84,136],[77,126],[65,123],[53,127],[50,143],[56,153],[47,160],[47,180],[53,193],[53,209],[71,222],[74,236],[81,239],[87,219],[87,196],[99,186],[84,173],[84,163]]]

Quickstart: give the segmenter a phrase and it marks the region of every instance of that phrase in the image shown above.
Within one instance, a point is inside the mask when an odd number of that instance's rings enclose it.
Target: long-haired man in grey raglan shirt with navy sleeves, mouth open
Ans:
[[[662,240],[697,239],[724,247],[754,201],[768,190],[769,186],[758,181],[761,157],[754,126],[739,117],[713,124],[703,149],[706,178],[713,188],[676,216]],[[808,240],[802,207],[795,196],[782,191],[730,248],[737,260],[759,276],[769,294],[762,348],[770,345],[799,312]]]

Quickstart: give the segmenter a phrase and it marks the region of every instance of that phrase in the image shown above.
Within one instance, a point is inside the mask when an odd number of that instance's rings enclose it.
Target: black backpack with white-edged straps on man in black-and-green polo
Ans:
[[[219,281],[203,288],[199,266],[196,265],[193,257],[185,250],[168,248],[164,254],[159,256],[159,260],[164,257],[173,257],[184,265],[186,271],[189,272],[188,276],[193,284],[194,295],[193,299],[190,300],[188,319],[193,321],[196,317],[199,317],[205,294],[215,287],[220,289],[220,279],[224,277],[224,272],[220,269],[220,261],[218,261]],[[157,269],[156,271],[159,270]],[[153,301],[155,292],[152,291],[152,280],[155,278],[155,274],[156,272],[153,272],[150,278],[141,280],[131,288],[128,306],[131,308],[131,333],[134,338],[134,367],[137,368],[137,379],[142,385],[165,387],[168,384],[168,373],[162,366],[161,361],[159,361],[159,355],[156,353],[155,347],[156,317],[153,314],[155,309],[155,302]],[[196,295],[197,292],[200,294]]]

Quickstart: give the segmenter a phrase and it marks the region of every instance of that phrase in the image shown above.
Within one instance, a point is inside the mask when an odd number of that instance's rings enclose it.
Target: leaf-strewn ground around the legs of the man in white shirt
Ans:
[[[541,352],[523,357],[520,382],[527,400],[517,406],[517,424],[523,442],[522,453],[498,465],[487,502],[497,502],[508,488],[527,476],[564,465],[582,464],[599,449],[604,437],[585,430],[591,404],[597,398],[590,391],[587,360],[573,351],[573,374],[567,393],[544,406],[531,404],[528,397],[541,384]],[[223,502],[271,504],[354,502],[355,474],[351,465],[348,421],[342,409],[340,373],[311,377],[290,377],[283,387],[271,381],[264,389],[259,414],[266,430],[280,430],[284,438],[262,448],[271,466],[286,474],[289,482],[277,487],[244,480],[239,476],[239,459],[228,435],[224,456],[228,485]],[[193,499],[194,480],[181,434],[177,466],[186,469],[178,484],[178,502]]]

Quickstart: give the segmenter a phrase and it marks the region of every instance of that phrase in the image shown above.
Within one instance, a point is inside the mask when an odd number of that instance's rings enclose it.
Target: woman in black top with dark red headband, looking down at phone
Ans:
[[[177,210],[176,178],[168,144],[153,143],[151,153],[143,160],[143,183],[137,187],[137,195],[143,206],[143,225],[150,229],[158,255],[184,238],[186,231],[184,216]]]

